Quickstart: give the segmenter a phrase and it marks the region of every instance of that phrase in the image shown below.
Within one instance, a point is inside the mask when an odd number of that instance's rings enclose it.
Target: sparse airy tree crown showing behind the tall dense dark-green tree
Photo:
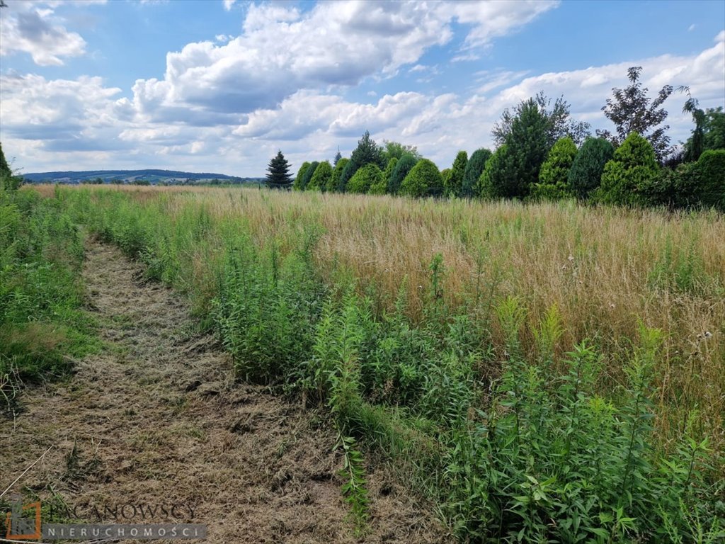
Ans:
[[[589,136],[591,128],[589,123],[578,123],[571,119],[571,107],[563,96],[556,99],[553,107],[551,107],[551,99],[547,98],[544,91],[539,91],[537,96],[523,100],[513,110],[506,108],[503,111],[501,119],[491,131],[494,142],[498,147],[509,142],[514,120],[521,117],[525,108],[531,107],[531,102],[537,105],[539,113],[546,120],[548,147],[552,147],[555,141],[562,139],[564,136],[571,136],[576,145],[580,145]]]

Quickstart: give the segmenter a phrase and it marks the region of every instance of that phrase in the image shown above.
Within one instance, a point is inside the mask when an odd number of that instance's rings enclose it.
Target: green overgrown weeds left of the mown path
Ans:
[[[9,416],[22,384],[65,376],[69,355],[95,346],[80,309],[78,228],[57,199],[19,185],[9,169],[0,175],[0,407]]]

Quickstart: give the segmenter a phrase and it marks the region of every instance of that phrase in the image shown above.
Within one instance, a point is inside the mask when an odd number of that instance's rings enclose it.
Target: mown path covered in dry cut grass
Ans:
[[[14,424],[0,421],[2,489],[52,447],[12,491],[62,498],[89,521],[94,507],[176,504],[171,520],[207,524],[212,544],[443,540],[434,516],[381,471],[370,474],[368,532],[355,537],[335,437],[314,414],[234,383],[227,355],[193,332],[186,302],[144,282],[118,250],[89,242],[86,259],[107,347],[70,382],[26,391]],[[152,519],[169,521],[104,515]]]

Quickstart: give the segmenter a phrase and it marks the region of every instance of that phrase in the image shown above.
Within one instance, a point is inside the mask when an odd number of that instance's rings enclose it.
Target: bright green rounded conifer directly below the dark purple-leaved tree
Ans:
[[[659,168],[652,145],[638,133],[630,133],[605,165],[596,199],[605,204],[645,204],[647,187],[658,176]]]

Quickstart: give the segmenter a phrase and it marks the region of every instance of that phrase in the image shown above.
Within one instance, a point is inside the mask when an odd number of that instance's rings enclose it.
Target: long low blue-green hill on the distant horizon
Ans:
[[[80,184],[100,179],[104,184],[133,184],[148,181],[149,184],[202,185],[202,184],[257,184],[264,178],[239,178],[209,172],[181,172],[178,170],[82,170],[67,172],[31,172],[22,174],[25,182],[51,184]]]

